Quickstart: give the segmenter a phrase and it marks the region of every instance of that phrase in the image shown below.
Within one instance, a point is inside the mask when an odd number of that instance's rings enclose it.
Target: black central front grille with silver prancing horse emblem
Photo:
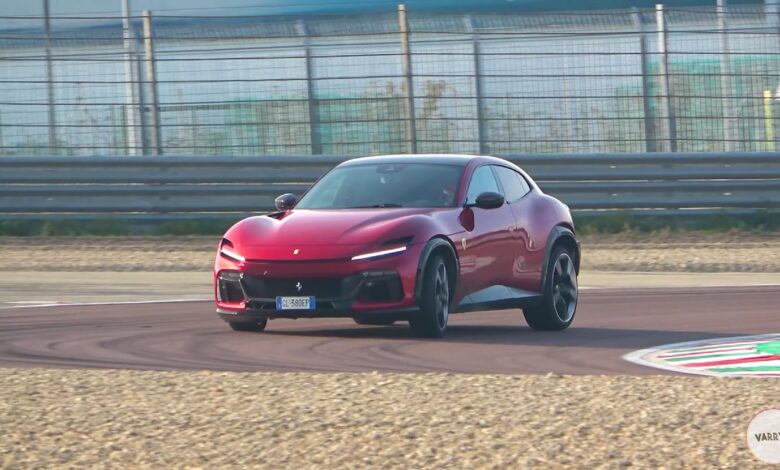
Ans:
[[[248,296],[263,299],[309,295],[336,299],[342,297],[343,292],[341,278],[263,279],[244,276],[243,283]]]

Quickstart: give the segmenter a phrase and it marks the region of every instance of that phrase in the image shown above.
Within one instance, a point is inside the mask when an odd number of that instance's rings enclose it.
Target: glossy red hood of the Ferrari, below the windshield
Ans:
[[[431,209],[293,209],[238,222],[225,234],[249,260],[346,259],[403,243],[432,222]],[[435,211],[434,211],[435,212]],[[421,241],[421,240],[415,240]],[[391,242],[390,245],[387,242]]]

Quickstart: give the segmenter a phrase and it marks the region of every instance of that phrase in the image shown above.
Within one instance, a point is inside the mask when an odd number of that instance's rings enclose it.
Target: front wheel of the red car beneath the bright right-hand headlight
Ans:
[[[414,336],[441,338],[447,329],[450,314],[450,285],[447,263],[441,256],[433,256],[425,266],[422,279],[420,311],[409,318]]]

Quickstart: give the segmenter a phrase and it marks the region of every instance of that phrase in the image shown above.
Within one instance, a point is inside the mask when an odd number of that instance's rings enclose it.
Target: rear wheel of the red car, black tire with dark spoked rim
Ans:
[[[565,330],[577,313],[577,270],[574,255],[564,247],[553,250],[547,260],[545,292],[538,305],[523,309],[525,321],[534,330]]]

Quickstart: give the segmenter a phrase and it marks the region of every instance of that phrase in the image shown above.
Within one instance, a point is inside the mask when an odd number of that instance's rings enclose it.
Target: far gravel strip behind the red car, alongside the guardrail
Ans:
[[[219,237],[0,237],[0,271],[203,271]],[[582,237],[584,271],[780,272],[780,233]]]

